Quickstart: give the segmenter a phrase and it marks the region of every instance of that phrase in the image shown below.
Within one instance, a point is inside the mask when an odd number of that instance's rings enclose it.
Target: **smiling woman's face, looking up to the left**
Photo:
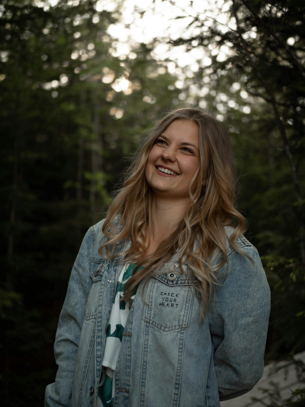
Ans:
[[[150,150],[146,180],[157,196],[189,199],[188,188],[199,162],[198,125],[190,120],[174,120]]]

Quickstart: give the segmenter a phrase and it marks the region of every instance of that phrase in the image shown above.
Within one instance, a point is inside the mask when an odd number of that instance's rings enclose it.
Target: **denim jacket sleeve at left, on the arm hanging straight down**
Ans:
[[[78,341],[92,284],[89,271],[94,243],[94,229],[90,228],[83,239],[72,268],[67,295],[59,316],[54,343],[58,370],[55,383],[46,387],[45,407],[71,405]]]

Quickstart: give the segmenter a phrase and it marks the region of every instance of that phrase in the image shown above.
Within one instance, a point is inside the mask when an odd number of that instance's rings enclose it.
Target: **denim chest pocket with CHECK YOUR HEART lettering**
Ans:
[[[190,323],[194,280],[169,271],[150,278],[143,320],[163,331],[181,330]]]

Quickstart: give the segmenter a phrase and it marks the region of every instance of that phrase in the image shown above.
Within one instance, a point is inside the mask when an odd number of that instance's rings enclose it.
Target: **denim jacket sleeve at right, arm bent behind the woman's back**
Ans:
[[[253,262],[228,255],[208,311],[220,401],[251,390],[264,371],[270,289],[255,247],[242,249]]]

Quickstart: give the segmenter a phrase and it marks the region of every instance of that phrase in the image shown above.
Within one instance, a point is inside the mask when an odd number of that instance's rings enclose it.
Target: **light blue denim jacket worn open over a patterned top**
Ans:
[[[122,258],[98,254],[101,229],[99,222],[88,230],[72,269],[54,344],[59,368],[55,383],[46,387],[45,406],[96,404],[123,267]],[[229,236],[233,230],[226,231]],[[227,244],[228,267],[219,271],[221,284],[201,324],[194,280],[175,272],[173,263],[139,285],[116,365],[114,406],[219,407],[220,400],[248,392],[260,379],[270,290],[255,247],[244,236],[236,243],[254,261]]]

